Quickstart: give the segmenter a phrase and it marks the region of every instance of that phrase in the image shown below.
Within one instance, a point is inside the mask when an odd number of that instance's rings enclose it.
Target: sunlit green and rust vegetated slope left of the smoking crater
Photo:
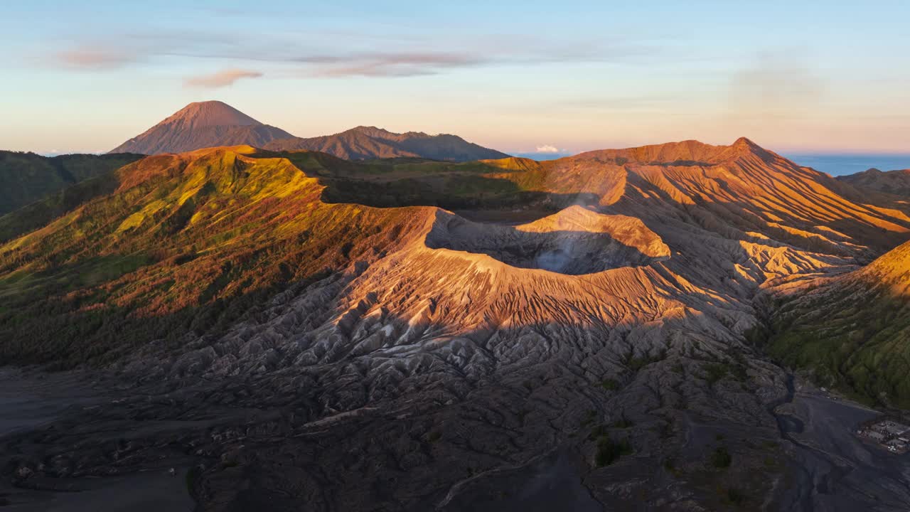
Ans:
[[[103,363],[212,332],[414,229],[408,210],[319,200],[287,159],[154,157],[120,188],[0,246],[0,360]]]

